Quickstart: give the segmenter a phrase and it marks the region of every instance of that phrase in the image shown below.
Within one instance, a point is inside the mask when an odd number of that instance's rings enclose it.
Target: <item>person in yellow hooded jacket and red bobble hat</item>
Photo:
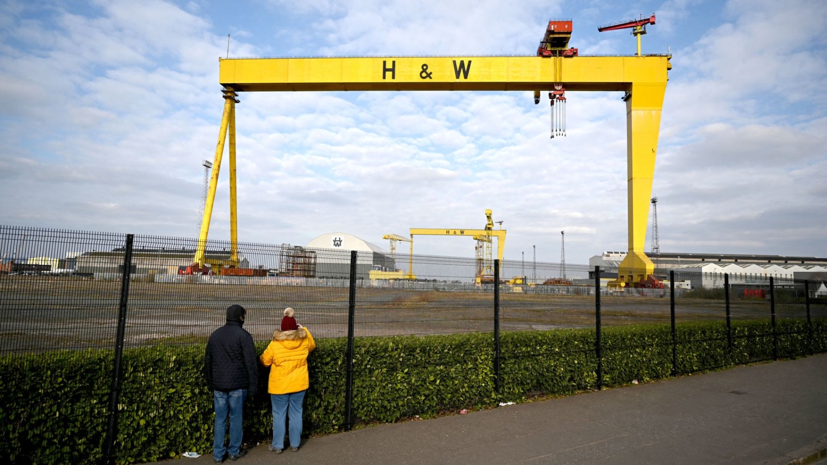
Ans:
[[[281,328],[273,332],[273,340],[261,354],[261,363],[270,367],[270,405],[273,410],[273,443],[270,450],[284,449],[284,423],[289,412],[290,448],[299,450],[302,435],[302,402],[310,386],[308,354],[316,348],[313,336],[296,323],[294,309],[284,309]]]

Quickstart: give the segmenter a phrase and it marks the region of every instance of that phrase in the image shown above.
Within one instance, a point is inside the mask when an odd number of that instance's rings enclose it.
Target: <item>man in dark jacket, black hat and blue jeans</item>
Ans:
[[[215,429],[213,430],[213,462],[222,463],[228,453],[230,461],[246,455],[241,448],[241,407],[247,395],[256,395],[258,357],[253,338],[241,328],[247,314],[241,305],[227,309],[227,324],[209,337],[204,356],[204,372],[213,391]],[[230,444],[224,446],[230,415]]]

